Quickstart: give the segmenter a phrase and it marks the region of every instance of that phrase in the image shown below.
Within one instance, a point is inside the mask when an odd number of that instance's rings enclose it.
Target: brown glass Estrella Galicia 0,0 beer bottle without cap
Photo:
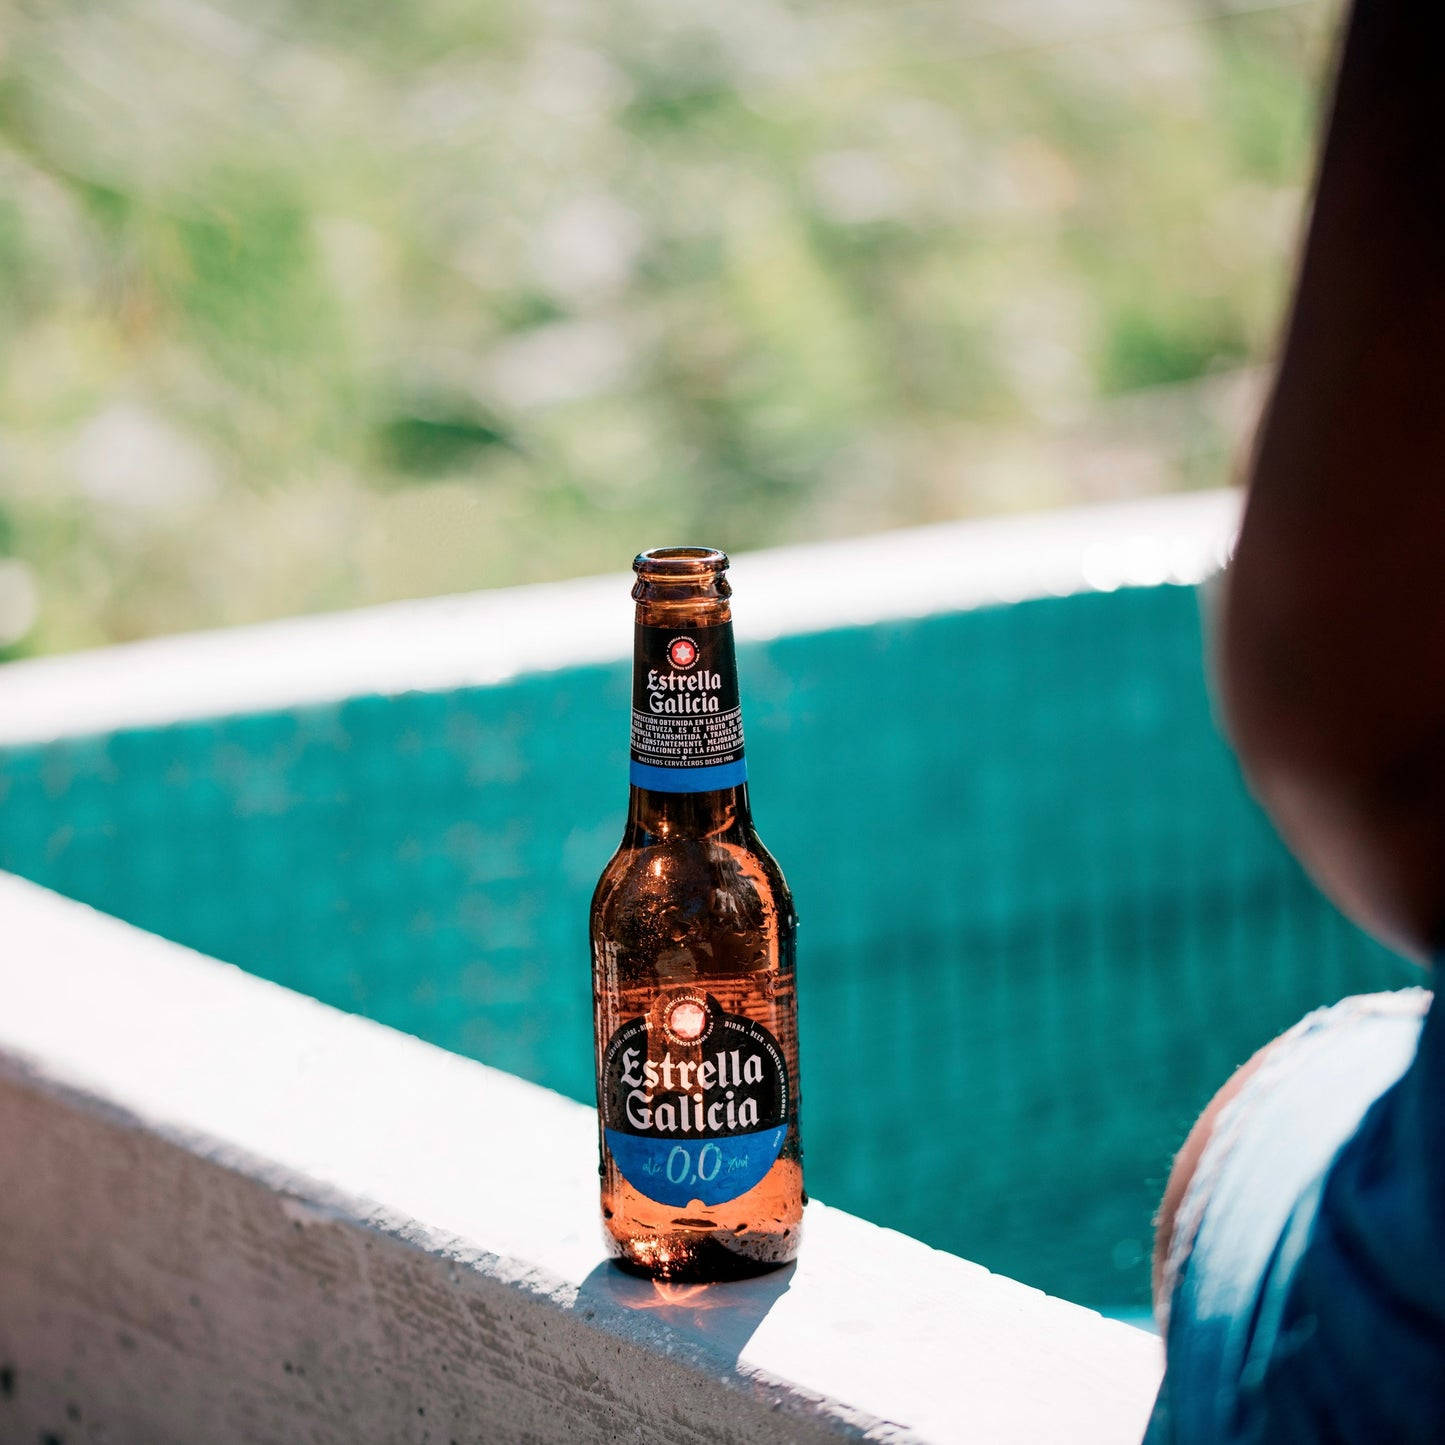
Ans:
[[[592,897],[604,1231],[660,1279],[785,1264],[806,1202],[796,920],[747,802],[727,565],[633,562],[631,795]]]

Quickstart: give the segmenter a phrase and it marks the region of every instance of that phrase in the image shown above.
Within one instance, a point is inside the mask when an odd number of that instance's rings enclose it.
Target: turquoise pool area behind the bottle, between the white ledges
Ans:
[[[1412,971],[1250,803],[1183,587],[740,647],[801,915],[812,1192],[1147,1299],[1172,1149],[1315,1003]],[[0,867],[591,1097],[627,666],[0,750]],[[458,1147],[465,1147],[464,1137]]]

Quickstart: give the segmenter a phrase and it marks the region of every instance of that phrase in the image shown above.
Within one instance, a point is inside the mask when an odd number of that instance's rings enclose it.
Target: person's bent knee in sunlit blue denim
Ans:
[[[1429,1006],[1410,988],[1316,1010],[1220,1111],[1175,1224],[1152,1441],[1439,1438],[1445,1413],[1425,1433],[1381,1433],[1373,1402],[1397,1381],[1402,1272],[1428,1276],[1419,1340],[1445,1366],[1445,1254],[1428,1247],[1445,1123],[1422,1088],[1445,1068],[1445,1020]],[[1358,1431],[1341,1436],[1355,1405]],[[1331,1423],[1311,1433],[1319,1410]]]

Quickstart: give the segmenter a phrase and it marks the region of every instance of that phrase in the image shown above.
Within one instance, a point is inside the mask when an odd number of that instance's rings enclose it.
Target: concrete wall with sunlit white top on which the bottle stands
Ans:
[[[1127,1325],[819,1204],[629,1279],[591,1110],[3,874],[0,936],[0,1439],[1142,1433]]]

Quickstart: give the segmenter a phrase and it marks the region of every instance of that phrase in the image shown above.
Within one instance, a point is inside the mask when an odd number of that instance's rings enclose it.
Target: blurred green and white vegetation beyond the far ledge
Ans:
[[[0,647],[1220,484],[1337,19],[0,0]]]

